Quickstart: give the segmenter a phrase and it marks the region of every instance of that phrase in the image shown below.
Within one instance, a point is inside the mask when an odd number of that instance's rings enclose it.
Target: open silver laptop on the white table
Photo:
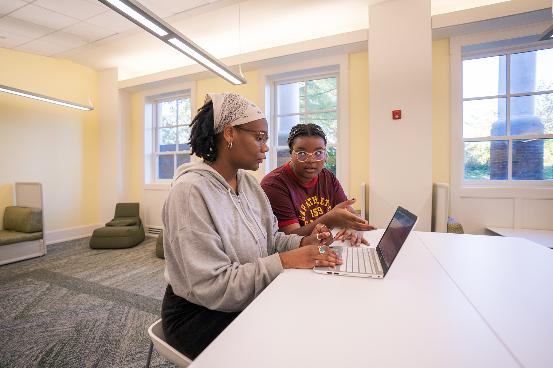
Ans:
[[[383,278],[418,221],[419,217],[398,207],[376,248],[328,246],[340,255],[343,264],[315,266],[313,270],[327,275]]]

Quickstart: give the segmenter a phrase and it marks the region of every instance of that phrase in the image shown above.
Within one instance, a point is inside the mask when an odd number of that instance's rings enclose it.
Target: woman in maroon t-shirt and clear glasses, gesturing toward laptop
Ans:
[[[261,180],[273,213],[279,222],[279,231],[285,234],[309,235],[317,223],[329,230],[343,228],[336,237],[349,239],[349,246],[361,243],[369,245],[362,237],[363,231],[375,230],[357,214],[335,175],[325,169],[326,134],[319,125],[298,124],[288,136],[292,158],[283,166],[274,169]]]

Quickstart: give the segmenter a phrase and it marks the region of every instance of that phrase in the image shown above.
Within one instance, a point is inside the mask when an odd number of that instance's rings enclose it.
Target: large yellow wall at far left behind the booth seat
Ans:
[[[90,71],[98,105],[98,73]],[[0,84],[88,104],[88,70],[0,48]],[[0,92],[0,215],[14,182],[42,182],[46,231],[98,223],[98,110]]]

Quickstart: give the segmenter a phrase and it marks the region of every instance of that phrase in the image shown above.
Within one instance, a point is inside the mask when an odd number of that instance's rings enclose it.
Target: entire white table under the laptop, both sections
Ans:
[[[550,367],[553,252],[517,241],[414,233],[384,279],[285,270],[191,368]]]

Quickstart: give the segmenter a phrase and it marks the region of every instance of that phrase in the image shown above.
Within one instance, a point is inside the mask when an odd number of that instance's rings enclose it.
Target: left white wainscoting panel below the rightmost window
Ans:
[[[487,234],[486,227],[514,227],[514,198],[461,197],[461,222],[465,234]]]

